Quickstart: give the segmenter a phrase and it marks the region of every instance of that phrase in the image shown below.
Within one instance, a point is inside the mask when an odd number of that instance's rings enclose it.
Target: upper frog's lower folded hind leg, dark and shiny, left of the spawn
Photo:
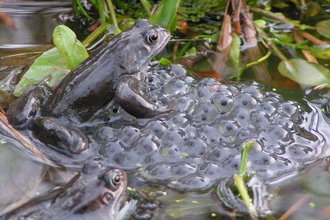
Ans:
[[[88,149],[88,139],[84,133],[78,128],[66,127],[56,119],[36,117],[31,121],[29,129],[41,142],[64,154],[79,154]]]

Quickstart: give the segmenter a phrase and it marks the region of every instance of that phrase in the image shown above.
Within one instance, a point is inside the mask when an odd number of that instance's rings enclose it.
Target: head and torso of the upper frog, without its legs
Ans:
[[[56,89],[42,115],[64,116],[74,122],[87,121],[114,98],[123,75],[141,80],[141,74],[137,73],[143,72],[169,37],[166,29],[152,26],[144,19],[138,20],[131,29],[101,46],[71,71]]]

